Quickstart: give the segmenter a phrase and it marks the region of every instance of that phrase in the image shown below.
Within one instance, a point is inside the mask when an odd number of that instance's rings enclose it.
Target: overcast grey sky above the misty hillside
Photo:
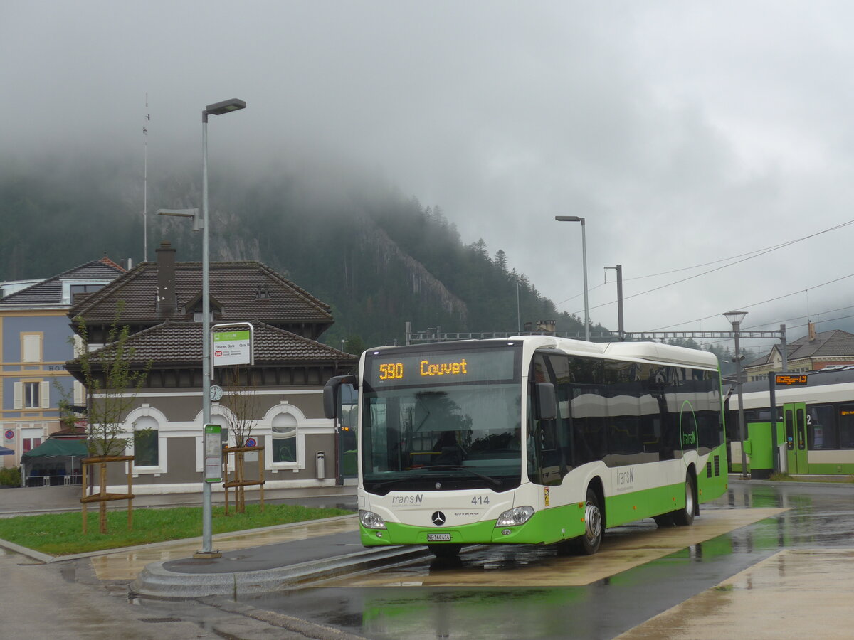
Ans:
[[[852,26],[846,2],[5,0],[0,149],[142,158],[150,113],[151,171],[239,97],[212,164],[367,170],[579,316],[581,228],[554,216],[582,216],[594,322],[621,264],[628,330],[742,307],[796,338],[851,328],[854,277],[822,284],[854,274],[854,225],[639,294],[854,219]]]

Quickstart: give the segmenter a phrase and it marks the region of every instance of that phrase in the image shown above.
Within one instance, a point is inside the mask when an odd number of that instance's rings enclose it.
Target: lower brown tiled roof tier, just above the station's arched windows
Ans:
[[[338,351],[334,347],[308,340],[290,331],[261,322],[252,324],[256,366],[333,362],[351,364],[357,359],[350,353]],[[144,365],[153,361],[155,368],[170,364],[201,366],[202,323],[167,321],[131,335],[126,346],[133,349],[132,364]],[[98,353],[109,355],[114,349],[114,345],[105,346]]]

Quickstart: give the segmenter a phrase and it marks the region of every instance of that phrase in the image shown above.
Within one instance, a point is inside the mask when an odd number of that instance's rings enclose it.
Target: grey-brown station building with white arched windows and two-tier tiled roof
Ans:
[[[138,265],[69,311],[97,347],[96,376],[100,358],[118,348],[99,346],[118,310],[120,324],[131,328],[132,369],[146,371],[138,393],[128,393],[120,425],[122,453],[134,456],[135,493],[195,492],[202,482],[202,265],[174,255],[164,243],[156,263]],[[254,333],[254,364],[213,371],[222,393],[213,398],[211,422],[223,427],[228,445],[237,444],[236,428],[249,428],[264,446],[258,462],[267,488],[335,485],[340,445],[335,423],[324,417],[323,387],[357,358],[316,340],[333,323],[330,307],[259,262],[212,263],[210,272],[212,325],[249,323]],[[85,381],[80,358],[66,366]],[[89,402],[109,402],[108,394]],[[248,463],[248,474],[256,468]],[[126,469],[109,473],[118,490]]]

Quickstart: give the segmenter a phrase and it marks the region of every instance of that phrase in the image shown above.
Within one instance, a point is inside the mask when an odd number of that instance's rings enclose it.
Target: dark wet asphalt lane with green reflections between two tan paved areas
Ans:
[[[704,505],[701,514],[712,509],[751,507],[787,510],[589,585],[513,586],[514,572],[554,561],[555,550],[494,547],[465,554],[458,563],[432,560],[408,567],[407,573],[388,570],[389,584],[384,586],[319,585],[248,596],[242,602],[282,614],[298,614],[377,640],[604,640],[715,588],[779,550],[854,547],[854,485],[735,481],[716,503]],[[608,538],[630,536],[643,527],[650,527],[649,521],[610,530],[603,549],[607,549]],[[436,575],[460,565],[470,570],[482,567],[483,584],[420,585],[419,575]],[[833,588],[828,585],[828,590]],[[768,624],[775,624],[775,620]]]

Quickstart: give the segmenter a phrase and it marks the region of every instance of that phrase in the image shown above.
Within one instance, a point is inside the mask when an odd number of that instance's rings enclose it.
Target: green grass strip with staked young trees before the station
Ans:
[[[213,507],[212,531],[239,532],[246,529],[273,527],[349,515],[346,509],[317,509],[292,504],[247,504],[245,514],[225,515],[224,507]],[[202,507],[173,509],[133,509],[133,529],[127,530],[127,511],[107,512],[107,533],[98,532],[97,509],[90,509],[87,518],[89,532],[83,534],[83,515],[80,512],[46,515],[18,515],[0,519],[0,538],[52,556],[68,556],[90,551],[118,549],[136,544],[152,544],[202,535]]]

